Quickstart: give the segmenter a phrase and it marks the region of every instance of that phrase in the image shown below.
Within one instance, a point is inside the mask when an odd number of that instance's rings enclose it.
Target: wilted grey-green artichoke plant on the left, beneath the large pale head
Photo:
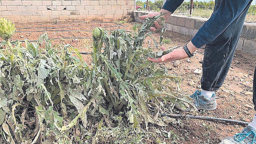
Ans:
[[[61,128],[90,98],[83,89],[90,68],[77,49],[52,47],[47,39],[44,34],[35,43],[0,49],[0,124],[10,129],[0,135],[6,142],[69,143]]]

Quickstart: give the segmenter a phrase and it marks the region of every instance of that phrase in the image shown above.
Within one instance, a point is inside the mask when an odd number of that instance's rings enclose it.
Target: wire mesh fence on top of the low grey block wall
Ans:
[[[136,10],[141,11],[159,11],[166,0],[136,0]],[[191,5],[192,2],[192,5]],[[176,14],[198,16],[198,17],[211,17],[214,10],[215,2],[208,1],[193,1],[185,0],[181,6],[174,12]],[[246,21],[256,22],[256,0],[253,0],[247,16]]]

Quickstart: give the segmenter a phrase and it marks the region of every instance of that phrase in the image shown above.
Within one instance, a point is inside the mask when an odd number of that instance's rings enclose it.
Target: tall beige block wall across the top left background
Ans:
[[[134,9],[134,0],[1,0],[0,16],[12,22],[114,21]]]

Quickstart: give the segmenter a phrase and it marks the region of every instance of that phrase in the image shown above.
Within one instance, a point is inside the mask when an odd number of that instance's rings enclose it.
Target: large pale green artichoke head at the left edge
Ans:
[[[0,37],[4,40],[8,40],[15,32],[15,24],[9,19],[2,17],[0,19]]]

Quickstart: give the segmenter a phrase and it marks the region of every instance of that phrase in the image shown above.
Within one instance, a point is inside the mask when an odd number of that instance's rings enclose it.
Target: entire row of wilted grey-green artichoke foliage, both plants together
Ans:
[[[166,125],[159,117],[172,111],[164,108],[166,101],[172,108],[192,107],[178,93],[181,78],[147,61],[152,51],[143,42],[160,17],[145,19],[134,33],[97,28],[91,66],[74,47],[52,46],[47,34],[35,43],[15,41],[0,49],[2,139],[11,144],[97,143],[102,127],[118,127],[117,115],[134,129],[147,129],[148,123]]]

